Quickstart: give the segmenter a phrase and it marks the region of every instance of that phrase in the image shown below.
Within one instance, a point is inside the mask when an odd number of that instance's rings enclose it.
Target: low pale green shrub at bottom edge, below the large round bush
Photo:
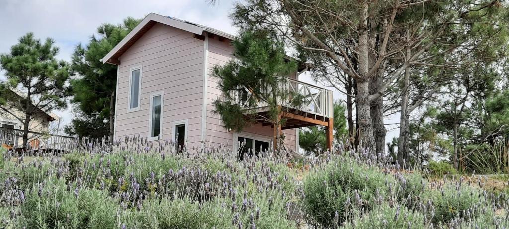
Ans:
[[[426,222],[428,224],[428,222]],[[377,205],[367,214],[356,213],[355,217],[348,220],[344,226],[345,229],[385,229],[385,228],[411,228],[424,229],[425,215],[407,209],[403,205],[390,207],[383,203]]]

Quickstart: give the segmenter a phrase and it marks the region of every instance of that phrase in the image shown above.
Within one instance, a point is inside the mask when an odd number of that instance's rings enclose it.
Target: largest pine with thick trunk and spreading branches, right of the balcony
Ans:
[[[269,28],[286,36],[306,61],[328,63],[353,78],[360,139],[373,149],[384,147],[375,144],[385,138],[375,135],[383,132],[380,97],[395,80],[410,65],[435,64],[435,55],[463,49],[469,41],[465,34],[476,30],[472,20],[493,24],[489,17],[471,17],[472,12],[500,8],[498,1],[249,0],[238,4],[232,17],[241,28]],[[407,38],[409,25],[416,29]],[[407,47],[409,55],[402,54]]]

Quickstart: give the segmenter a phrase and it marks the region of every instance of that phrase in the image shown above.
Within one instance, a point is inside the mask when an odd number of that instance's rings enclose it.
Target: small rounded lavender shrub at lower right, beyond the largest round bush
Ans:
[[[423,192],[422,197],[433,203],[435,212],[428,214],[434,222],[449,222],[457,216],[463,217],[467,210],[470,210],[470,217],[475,217],[478,212],[474,207],[482,206],[486,201],[482,190],[466,184],[445,184],[440,189]]]

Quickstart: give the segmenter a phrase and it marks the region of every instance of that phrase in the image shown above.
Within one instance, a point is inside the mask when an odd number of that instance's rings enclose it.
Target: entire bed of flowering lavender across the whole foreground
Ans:
[[[73,141],[4,151],[0,228],[504,228],[509,204],[463,180],[428,182],[367,150],[289,168],[284,151],[239,161],[225,146]],[[303,162],[302,162],[303,163]],[[309,171],[306,171],[310,168]],[[304,177],[302,180],[300,177]],[[299,179],[297,179],[299,177]]]

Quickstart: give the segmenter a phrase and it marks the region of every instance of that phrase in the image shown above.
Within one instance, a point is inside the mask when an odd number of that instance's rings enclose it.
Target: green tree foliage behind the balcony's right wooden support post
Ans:
[[[340,101],[334,102],[334,141],[342,142],[349,136],[347,129],[346,107]],[[327,150],[325,129],[311,126],[299,129],[299,146],[307,153],[318,156]]]

